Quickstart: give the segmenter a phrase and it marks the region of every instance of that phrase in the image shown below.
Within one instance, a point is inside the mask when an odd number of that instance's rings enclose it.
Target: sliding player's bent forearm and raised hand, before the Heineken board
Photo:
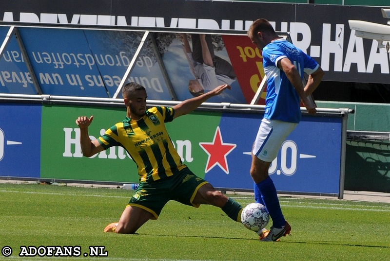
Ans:
[[[95,154],[103,151],[103,147],[100,145],[97,139],[91,140],[88,134],[88,127],[94,120],[94,116],[90,118],[86,116],[80,116],[76,119],[76,124],[80,128],[80,145],[82,155],[85,157],[92,157]]]

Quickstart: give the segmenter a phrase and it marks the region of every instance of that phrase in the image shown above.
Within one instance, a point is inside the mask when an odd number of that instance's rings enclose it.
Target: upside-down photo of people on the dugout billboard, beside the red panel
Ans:
[[[155,36],[178,100],[229,84],[231,91],[209,101],[246,103],[221,35],[156,33]],[[204,41],[203,50],[200,41]]]

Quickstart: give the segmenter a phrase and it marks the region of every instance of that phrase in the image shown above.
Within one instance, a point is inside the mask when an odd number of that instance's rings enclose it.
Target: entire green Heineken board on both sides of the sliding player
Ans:
[[[137,166],[122,147],[112,147],[87,158],[81,154],[78,116],[94,115],[91,139],[126,116],[125,107],[45,105],[42,108],[41,178],[137,183]],[[219,116],[219,117],[218,117]],[[205,176],[208,155],[199,142],[213,140],[221,113],[194,112],[166,124],[182,161],[197,175]],[[210,136],[210,137],[209,137]]]

